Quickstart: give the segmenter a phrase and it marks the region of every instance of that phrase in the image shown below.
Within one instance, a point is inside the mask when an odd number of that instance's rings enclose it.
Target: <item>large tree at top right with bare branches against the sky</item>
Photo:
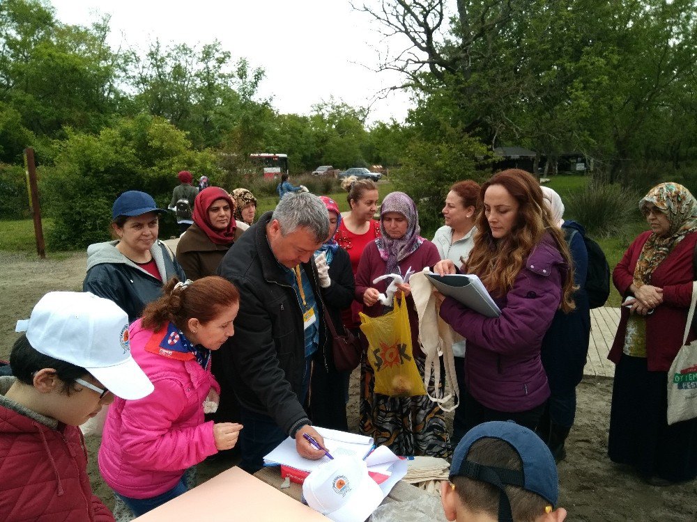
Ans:
[[[694,0],[385,0],[361,10],[401,51],[399,70],[420,106],[450,100],[447,118],[493,147],[548,155],[581,150],[611,180],[650,159],[673,86],[694,86]]]

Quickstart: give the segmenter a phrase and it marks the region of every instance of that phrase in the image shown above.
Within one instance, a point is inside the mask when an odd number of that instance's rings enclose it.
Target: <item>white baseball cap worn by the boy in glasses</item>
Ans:
[[[89,292],[49,292],[17,332],[41,354],[83,367],[117,397],[142,399],[155,389],[130,354],[128,315]]]

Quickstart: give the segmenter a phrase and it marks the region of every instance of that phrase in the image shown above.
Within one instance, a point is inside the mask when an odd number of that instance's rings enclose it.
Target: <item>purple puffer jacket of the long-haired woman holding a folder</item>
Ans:
[[[480,404],[515,413],[549,397],[540,348],[559,308],[568,269],[548,233],[533,248],[511,290],[495,299],[500,317],[484,317],[451,297],[443,301],[441,317],[467,339],[465,383]]]

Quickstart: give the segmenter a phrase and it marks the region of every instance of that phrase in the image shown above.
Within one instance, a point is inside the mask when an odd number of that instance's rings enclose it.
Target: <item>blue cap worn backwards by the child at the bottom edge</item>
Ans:
[[[509,443],[521,458],[523,470],[497,468],[468,461],[466,457],[470,448],[480,438],[498,438]],[[453,453],[450,465],[450,478],[452,477],[481,480],[501,489],[503,494],[499,502],[499,520],[510,518],[510,505],[507,506],[507,514],[502,509],[503,503],[508,503],[503,489],[505,484],[537,493],[553,506],[559,500],[559,477],[551,451],[535,432],[512,420],[483,422],[470,429]]]

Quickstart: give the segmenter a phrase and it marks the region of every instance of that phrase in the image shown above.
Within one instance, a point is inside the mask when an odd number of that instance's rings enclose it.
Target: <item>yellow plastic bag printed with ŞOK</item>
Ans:
[[[414,361],[406,299],[395,297],[394,303],[380,317],[360,313],[360,329],[368,340],[368,363],[375,372],[374,392],[390,397],[426,395]]]

